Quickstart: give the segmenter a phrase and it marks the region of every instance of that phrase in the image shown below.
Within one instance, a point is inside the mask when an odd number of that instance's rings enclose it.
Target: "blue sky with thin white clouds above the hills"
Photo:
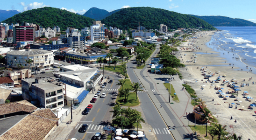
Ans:
[[[84,14],[91,7],[113,11],[124,7],[155,7],[181,14],[221,15],[256,22],[256,0],[1,0],[2,10],[20,12],[56,7]]]

